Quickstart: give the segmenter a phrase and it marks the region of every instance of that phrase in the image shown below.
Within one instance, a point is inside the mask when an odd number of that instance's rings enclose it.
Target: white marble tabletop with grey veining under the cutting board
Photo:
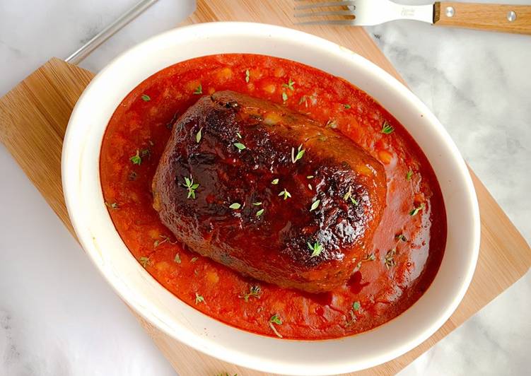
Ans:
[[[0,0],[0,95],[134,3]],[[81,66],[98,71],[193,6],[160,0]],[[531,37],[409,22],[368,32],[529,242]],[[4,146],[0,176],[0,375],[173,375]],[[401,375],[529,375],[530,310],[527,273]]]

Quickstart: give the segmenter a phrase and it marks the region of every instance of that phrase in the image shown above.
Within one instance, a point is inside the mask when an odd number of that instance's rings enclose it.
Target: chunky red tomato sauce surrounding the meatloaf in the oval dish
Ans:
[[[151,180],[171,124],[201,95],[219,90],[284,103],[323,127],[337,128],[385,165],[383,219],[372,249],[342,288],[312,295],[254,281],[179,244],[159,220]],[[140,160],[132,159],[135,155]],[[445,249],[443,197],[416,142],[368,94],[295,61],[221,54],[153,74],[112,115],[103,137],[100,177],[119,235],[159,283],[210,317],[266,336],[332,339],[377,327],[426,291]],[[259,286],[259,293],[247,295],[252,286]],[[272,322],[274,316],[278,319]]]

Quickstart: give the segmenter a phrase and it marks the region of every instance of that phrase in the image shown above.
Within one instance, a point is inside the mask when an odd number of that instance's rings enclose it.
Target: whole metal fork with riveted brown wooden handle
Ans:
[[[379,25],[392,20],[419,20],[438,26],[531,35],[531,5],[470,4],[437,1],[426,5],[402,5],[390,0],[325,1],[303,4],[296,0],[296,25]],[[342,7],[341,10],[322,8]],[[342,16],[330,19],[328,16]],[[349,16],[349,18],[343,18]],[[354,16],[354,18],[352,18]]]

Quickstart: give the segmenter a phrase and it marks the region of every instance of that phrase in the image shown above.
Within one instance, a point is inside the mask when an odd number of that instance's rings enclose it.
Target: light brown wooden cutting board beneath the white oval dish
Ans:
[[[291,1],[284,0],[199,0],[197,11],[186,23],[247,20],[293,27],[292,6]],[[315,26],[300,30],[352,49],[402,81],[362,28]],[[91,72],[60,59],[51,59],[0,98],[0,141],[72,235],[74,230],[66,213],[61,187],[62,141],[71,110],[93,76]],[[530,247],[482,182],[472,171],[471,174],[482,216],[482,240],[477,269],[465,298],[448,322],[430,339],[395,360],[357,372],[356,375],[395,374],[474,315],[530,268]],[[211,376],[220,372],[230,375],[237,373],[240,376],[264,375],[205,356],[166,336],[140,317],[137,318],[182,376]]]

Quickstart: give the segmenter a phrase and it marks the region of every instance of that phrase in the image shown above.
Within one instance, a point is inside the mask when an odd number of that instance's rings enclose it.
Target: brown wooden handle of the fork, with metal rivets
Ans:
[[[531,35],[531,6],[438,1],[433,24]]]

